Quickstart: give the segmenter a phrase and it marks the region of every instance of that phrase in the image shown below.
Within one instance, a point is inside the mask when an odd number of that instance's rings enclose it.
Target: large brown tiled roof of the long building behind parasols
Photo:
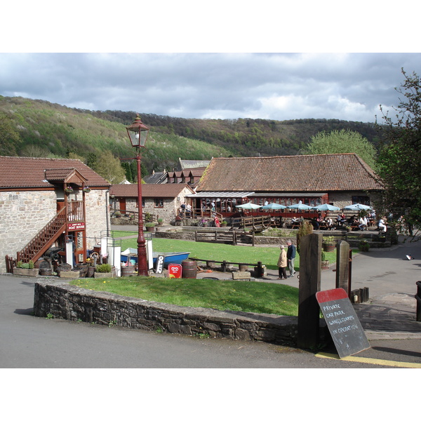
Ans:
[[[356,154],[213,158],[197,192],[331,192],[379,190]]]

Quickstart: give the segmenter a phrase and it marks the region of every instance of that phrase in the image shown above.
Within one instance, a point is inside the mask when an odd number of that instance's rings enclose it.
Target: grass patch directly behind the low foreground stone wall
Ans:
[[[183,307],[298,315],[298,288],[277,283],[175,279],[144,276],[82,278],[70,282],[90,290],[105,290],[125,297],[166,302]]]

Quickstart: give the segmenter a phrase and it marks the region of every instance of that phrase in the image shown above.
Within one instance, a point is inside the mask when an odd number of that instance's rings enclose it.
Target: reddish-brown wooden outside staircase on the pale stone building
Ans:
[[[55,217],[48,222],[48,224],[41,229],[34,238],[17,253],[17,262],[36,262],[42,255],[50,248],[51,244],[58,239],[60,234],[66,228],[66,212],[65,208],[62,208]]]

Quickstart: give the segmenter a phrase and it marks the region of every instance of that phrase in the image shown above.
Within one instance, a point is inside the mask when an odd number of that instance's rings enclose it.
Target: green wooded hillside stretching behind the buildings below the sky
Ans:
[[[72,109],[44,100],[0,96],[0,115],[11,119],[20,141],[15,152],[0,139],[0,154],[89,157],[109,149],[119,158],[133,156],[125,126],[135,112]],[[142,165],[172,170],[178,158],[208,160],[213,156],[279,156],[302,154],[320,131],[349,129],[373,145],[379,142],[374,123],[333,119],[275,121],[265,119],[181,119],[140,113],[151,128]],[[87,162],[88,163],[88,162]],[[88,163],[89,165],[89,163]]]

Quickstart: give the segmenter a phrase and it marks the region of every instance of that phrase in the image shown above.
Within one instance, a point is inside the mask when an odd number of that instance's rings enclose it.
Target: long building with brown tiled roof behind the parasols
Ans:
[[[371,205],[383,190],[373,169],[356,154],[213,158],[189,199],[198,211],[215,203],[216,212],[229,217],[235,206],[247,202]],[[288,210],[281,213],[293,215]]]

